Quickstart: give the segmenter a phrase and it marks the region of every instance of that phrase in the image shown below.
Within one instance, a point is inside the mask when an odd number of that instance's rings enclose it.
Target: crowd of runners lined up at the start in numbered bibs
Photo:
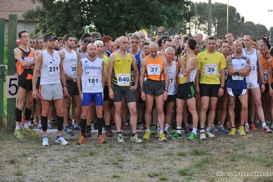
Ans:
[[[265,38],[257,48],[250,35],[242,40],[234,40],[230,33],[224,40],[213,36],[203,40],[200,33],[172,38],[162,36],[163,29],[158,28],[154,41],[143,31],[114,41],[94,31],[83,34],[79,46],[73,34],[60,39],[48,33],[31,41],[27,31],[19,32],[20,44],[14,49],[19,87],[14,135],[36,135],[31,122],[36,114],[42,145],[49,146],[53,108],[55,142],[63,145],[68,144],[63,133],[73,132],[81,133],[77,144],[86,144],[93,118],[101,144],[107,143],[103,128],[107,137],[114,136],[111,125],[119,143],[129,131],[131,142],[141,143],[137,129],[145,129],[143,140],[156,134],[162,142],[182,138],[182,130],[190,133],[189,140],[198,133],[200,140],[206,135],[214,138],[215,130],[246,135],[257,130],[259,120],[262,132],[271,133],[273,52]],[[59,41],[63,44],[56,48]],[[37,50],[33,42],[39,45]]]

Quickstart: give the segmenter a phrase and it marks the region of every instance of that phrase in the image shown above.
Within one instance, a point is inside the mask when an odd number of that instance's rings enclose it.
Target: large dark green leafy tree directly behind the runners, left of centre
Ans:
[[[41,21],[37,31],[63,36],[83,34],[83,27],[92,27],[102,35],[122,36],[125,32],[150,29],[152,25],[174,27],[182,18],[190,21],[187,11],[190,0],[32,0],[42,5],[23,14],[27,20]]]

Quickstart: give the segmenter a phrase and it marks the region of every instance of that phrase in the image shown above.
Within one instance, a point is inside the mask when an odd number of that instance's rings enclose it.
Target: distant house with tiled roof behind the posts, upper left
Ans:
[[[40,3],[32,3],[31,0],[0,0],[0,18],[5,18],[5,34],[8,34],[9,14],[17,14],[17,34],[19,31],[34,31],[39,21],[24,21],[23,12],[36,9]],[[17,37],[18,38],[18,37]]]

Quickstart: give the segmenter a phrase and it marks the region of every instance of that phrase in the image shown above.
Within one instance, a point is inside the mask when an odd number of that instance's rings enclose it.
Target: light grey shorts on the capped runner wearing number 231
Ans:
[[[55,101],[55,100],[62,99],[64,96],[64,92],[62,90],[62,84],[55,83],[55,84],[40,85],[39,96],[40,96],[40,99],[44,99],[47,101]]]

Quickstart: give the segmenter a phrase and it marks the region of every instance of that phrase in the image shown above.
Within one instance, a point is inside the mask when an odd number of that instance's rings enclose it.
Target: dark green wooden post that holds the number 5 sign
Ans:
[[[10,14],[8,17],[8,75],[15,74],[14,48],[16,47],[17,15]],[[16,99],[8,99],[7,123],[11,128],[15,127],[15,104]]]

